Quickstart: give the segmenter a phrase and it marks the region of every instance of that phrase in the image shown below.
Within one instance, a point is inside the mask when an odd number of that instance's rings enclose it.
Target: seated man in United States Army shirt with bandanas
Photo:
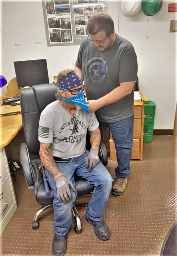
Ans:
[[[54,195],[53,255],[64,255],[67,232],[72,224],[72,206],[77,191],[74,174],[94,186],[85,219],[93,226],[101,240],[110,238],[110,230],[102,216],[112,187],[112,177],[99,161],[99,123],[95,113],[89,113],[84,86],[76,73],[67,69],[57,77],[58,100],[41,113],[39,122],[40,158]],[[90,131],[91,150],[85,148],[87,128]],[[57,162],[58,158],[65,162]]]

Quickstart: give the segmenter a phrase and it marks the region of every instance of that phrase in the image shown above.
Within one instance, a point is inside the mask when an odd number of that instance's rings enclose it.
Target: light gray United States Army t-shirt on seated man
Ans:
[[[51,153],[54,157],[71,158],[83,154],[87,129],[92,132],[99,126],[95,113],[88,115],[79,106],[75,114],[78,132],[74,129],[72,117],[60,105],[59,100],[47,105],[41,113],[38,139],[40,142],[51,144]]]

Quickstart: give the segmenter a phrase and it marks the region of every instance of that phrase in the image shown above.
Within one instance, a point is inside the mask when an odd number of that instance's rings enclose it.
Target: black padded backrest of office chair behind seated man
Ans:
[[[34,85],[21,91],[20,104],[23,129],[29,154],[39,155],[38,126],[41,112],[55,100],[54,84]]]

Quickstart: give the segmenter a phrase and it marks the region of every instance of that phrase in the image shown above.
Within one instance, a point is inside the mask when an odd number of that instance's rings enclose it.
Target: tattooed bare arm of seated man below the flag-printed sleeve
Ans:
[[[39,155],[42,164],[44,164],[45,168],[49,171],[54,179],[62,175],[62,173],[57,168],[55,160],[51,154],[51,144],[40,142]]]

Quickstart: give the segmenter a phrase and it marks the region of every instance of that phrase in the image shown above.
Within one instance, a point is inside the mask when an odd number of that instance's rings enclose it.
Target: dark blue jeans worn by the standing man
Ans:
[[[130,174],[130,160],[133,146],[134,115],[114,123],[101,123],[101,140],[104,139],[105,127],[109,126],[115,143],[118,166],[115,168],[116,177],[127,177]]]

